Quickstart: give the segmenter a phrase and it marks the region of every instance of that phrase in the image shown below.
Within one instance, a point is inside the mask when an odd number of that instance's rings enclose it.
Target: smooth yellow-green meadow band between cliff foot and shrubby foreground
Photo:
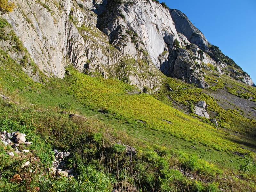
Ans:
[[[231,136],[226,132],[186,115],[166,102],[147,94],[128,94],[127,91],[131,92],[134,87],[118,80],[86,76],[69,67],[71,76],[66,76],[63,80],[50,79],[46,85],[42,85],[29,79],[10,58],[2,62],[9,63],[0,68],[0,83],[4,89],[16,92],[38,107],[61,107],[69,103],[68,108],[71,111],[85,116],[103,117],[102,121],[116,130],[116,133],[113,133],[115,136],[122,130],[134,138],[174,148],[176,153],[182,153],[183,157],[197,154],[199,159],[235,170],[239,168],[242,158],[232,152],[248,152],[232,142]],[[191,87],[188,84],[185,86]],[[198,89],[193,89],[199,92]],[[193,95],[197,93],[193,92]],[[187,100],[185,97],[183,99]],[[98,113],[99,109],[104,109],[108,114]],[[143,146],[147,146],[148,142]],[[196,150],[191,148],[191,145],[195,146]]]

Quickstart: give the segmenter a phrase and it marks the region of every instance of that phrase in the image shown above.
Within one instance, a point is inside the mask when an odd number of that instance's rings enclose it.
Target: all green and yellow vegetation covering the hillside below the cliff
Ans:
[[[11,148],[0,144],[0,190],[256,190],[255,153],[247,150],[255,149],[255,120],[221,108],[202,89],[168,77],[158,94],[137,94],[131,85],[73,67],[64,79],[42,77],[42,84],[2,50],[0,61],[1,95],[9,97],[1,99],[0,131],[25,133],[32,142],[25,157],[8,156]],[[218,114],[219,127],[173,105],[192,108],[199,100]],[[69,118],[72,113],[87,119]],[[78,176],[45,172],[54,148],[71,153],[67,167]],[[22,181],[13,179],[16,174]]]

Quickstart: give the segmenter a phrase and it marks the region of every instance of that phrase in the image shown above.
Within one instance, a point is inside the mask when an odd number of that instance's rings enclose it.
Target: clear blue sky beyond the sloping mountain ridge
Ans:
[[[162,1],[160,1],[162,2]],[[165,0],[256,83],[256,0]]]

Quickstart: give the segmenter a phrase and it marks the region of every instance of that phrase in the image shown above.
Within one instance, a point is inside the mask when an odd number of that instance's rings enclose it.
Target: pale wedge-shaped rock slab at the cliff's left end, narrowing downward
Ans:
[[[13,12],[3,17],[12,25],[39,69],[49,76],[63,77],[71,0],[57,3],[33,0],[12,2],[15,4]]]

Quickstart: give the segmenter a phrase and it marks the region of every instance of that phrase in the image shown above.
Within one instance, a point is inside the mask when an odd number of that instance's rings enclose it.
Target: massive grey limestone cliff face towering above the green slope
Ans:
[[[203,69],[222,75],[232,66],[239,73],[229,71],[229,76],[254,85],[185,14],[151,0],[12,2],[13,12],[1,15],[11,25],[4,31],[13,30],[28,53],[12,51],[13,38],[0,39],[0,48],[22,66],[25,60],[23,71],[37,82],[42,72],[64,77],[72,64],[80,72],[118,78],[141,91],[159,90],[160,71],[207,88]]]

